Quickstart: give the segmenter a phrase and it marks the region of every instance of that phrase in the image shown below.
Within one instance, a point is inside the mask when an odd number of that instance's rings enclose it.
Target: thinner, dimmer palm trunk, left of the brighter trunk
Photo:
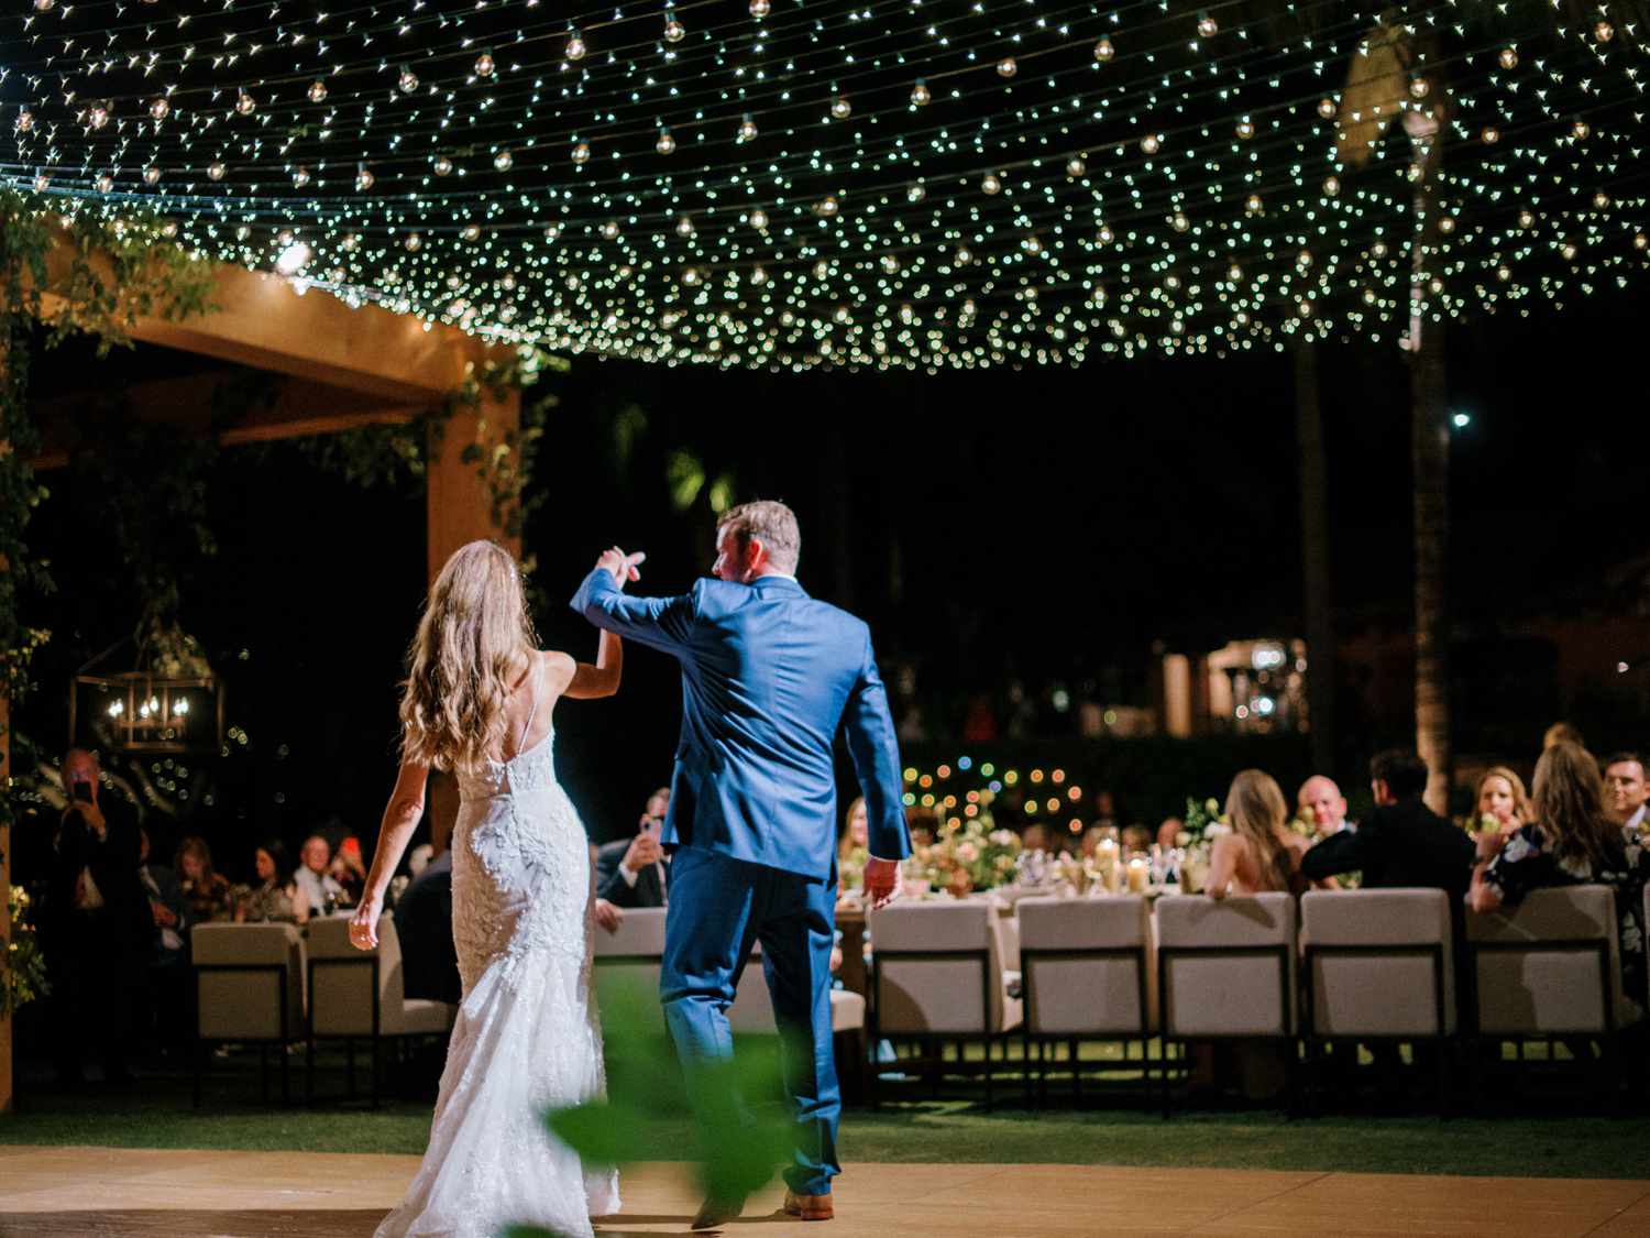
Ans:
[[[1300,469],[1300,568],[1307,621],[1307,726],[1312,768],[1335,769],[1335,611],[1330,591],[1328,461],[1318,404],[1318,347],[1299,335],[1295,456]]]

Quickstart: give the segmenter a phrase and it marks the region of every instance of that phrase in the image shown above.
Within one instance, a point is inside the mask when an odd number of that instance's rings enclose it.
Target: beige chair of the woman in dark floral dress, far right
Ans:
[[[1600,1088],[1614,1086],[1629,1007],[1609,886],[1533,890],[1516,908],[1468,911],[1467,952],[1478,1043],[1597,1040]],[[1477,1053],[1473,1065],[1482,1066]]]

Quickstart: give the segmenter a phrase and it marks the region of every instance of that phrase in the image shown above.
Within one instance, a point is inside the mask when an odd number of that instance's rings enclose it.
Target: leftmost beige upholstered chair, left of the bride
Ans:
[[[269,1099],[269,1050],[280,1055],[280,1099],[290,1103],[287,1045],[304,1040],[304,941],[297,924],[196,924],[195,1104],[201,1099],[206,1051],[221,1042],[259,1047],[261,1083]]]

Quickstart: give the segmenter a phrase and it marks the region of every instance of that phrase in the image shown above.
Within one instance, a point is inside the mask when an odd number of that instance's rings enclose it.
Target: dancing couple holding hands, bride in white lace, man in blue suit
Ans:
[[[799,555],[797,520],[776,502],[723,517],[711,578],[680,596],[627,594],[644,556],[606,551],[573,599],[601,629],[594,664],[538,650],[502,548],[475,541],[442,568],[412,642],[403,766],[351,938],[376,944],[427,771],[454,771],[464,999],[429,1151],[380,1235],[492,1235],[503,1221],[587,1235],[591,1217],[619,1210],[617,1177],[587,1172],[538,1114],[602,1089],[589,845],[556,781],[551,711],[561,697],[617,692],[622,640],[681,664],[681,739],[662,834],[673,850],[660,969],[672,1040],[690,1083],[698,1063],[733,1053],[726,1010],[759,941],[795,1114],[785,1210],[832,1217],[842,1111],[830,1018],[838,731],[866,801],[873,905],[893,898],[909,842],[870,629],[804,591]],[[708,1198],[693,1228],[724,1225],[742,1203]]]

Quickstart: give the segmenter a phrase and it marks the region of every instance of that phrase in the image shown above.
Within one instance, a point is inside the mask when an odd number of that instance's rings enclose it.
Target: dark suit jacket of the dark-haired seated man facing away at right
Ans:
[[[1472,881],[1473,845],[1467,832],[1447,822],[1421,799],[1383,804],[1356,830],[1332,834],[1300,860],[1313,880],[1363,873],[1365,890],[1431,886],[1450,896],[1455,914]]]

